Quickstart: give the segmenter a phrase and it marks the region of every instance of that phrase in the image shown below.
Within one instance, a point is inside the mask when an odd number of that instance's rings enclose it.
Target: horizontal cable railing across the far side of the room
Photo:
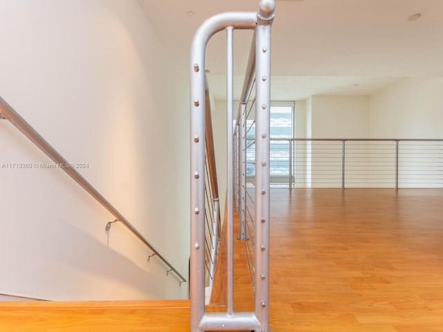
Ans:
[[[440,188],[442,139],[271,138],[272,187]]]

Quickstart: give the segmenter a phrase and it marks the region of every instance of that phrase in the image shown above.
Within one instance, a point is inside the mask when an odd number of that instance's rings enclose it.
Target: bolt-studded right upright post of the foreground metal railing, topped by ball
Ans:
[[[273,1],[272,1],[273,5]],[[259,12],[255,28],[255,315],[269,329],[269,133],[273,7]],[[267,17],[267,19],[262,19]]]

